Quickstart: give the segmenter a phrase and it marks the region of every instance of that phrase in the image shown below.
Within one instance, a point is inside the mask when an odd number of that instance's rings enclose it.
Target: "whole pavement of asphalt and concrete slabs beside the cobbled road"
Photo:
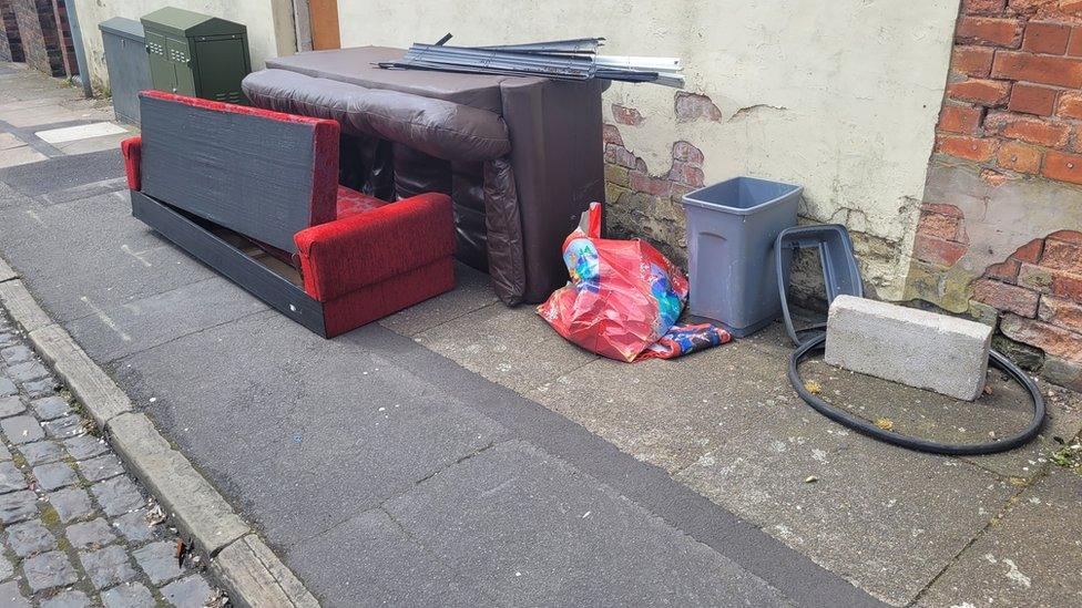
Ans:
[[[323,340],[131,217],[122,135],[35,135],[108,122],[76,97],[0,64],[0,131],[44,157],[0,152],[0,256],[324,605],[1082,604],[1082,475],[1053,463],[1079,395],[1042,384],[1049,425],[1022,450],[918,454],[807,408],[779,327],[622,364],[465,267]],[[1028,416],[994,371],[974,403],[803,371],[922,436]]]

